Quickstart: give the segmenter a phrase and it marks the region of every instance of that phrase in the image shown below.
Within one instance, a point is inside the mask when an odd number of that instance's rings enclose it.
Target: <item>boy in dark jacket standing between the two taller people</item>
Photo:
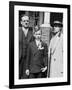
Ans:
[[[27,52],[26,75],[29,78],[46,77],[48,64],[48,48],[47,44],[41,40],[41,30],[38,26],[34,30],[34,41],[29,44]]]

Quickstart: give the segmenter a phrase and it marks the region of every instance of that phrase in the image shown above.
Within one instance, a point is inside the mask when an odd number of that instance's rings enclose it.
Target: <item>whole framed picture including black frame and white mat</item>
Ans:
[[[10,88],[69,85],[70,6],[10,2],[10,10]]]

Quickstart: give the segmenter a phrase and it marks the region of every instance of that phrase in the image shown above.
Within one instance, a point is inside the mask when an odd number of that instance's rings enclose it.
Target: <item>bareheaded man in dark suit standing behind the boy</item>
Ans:
[[[21,25],[19,27],[19,79],[27,78],[25,74],[26,57],[28,44],[33,40],[32,28],[29,28],[29,17],[23,15],[21,17]]]

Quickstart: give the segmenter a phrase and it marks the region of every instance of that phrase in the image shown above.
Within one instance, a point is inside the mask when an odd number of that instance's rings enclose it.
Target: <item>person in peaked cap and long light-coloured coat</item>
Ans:
[[[63,34],[62,23],[54,21],[53,33],[54,36],[49,45],[49,77],[63,76]]]

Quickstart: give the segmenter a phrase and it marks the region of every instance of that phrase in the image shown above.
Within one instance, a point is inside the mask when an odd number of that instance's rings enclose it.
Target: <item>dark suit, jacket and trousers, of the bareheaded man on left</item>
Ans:
[[[29,28],[27,36],[22,30],[22,27],[19,28],[19,78],[25,76],[26,70],[26,56],[28,44],[33,40],[33,31],[32,28]]]

